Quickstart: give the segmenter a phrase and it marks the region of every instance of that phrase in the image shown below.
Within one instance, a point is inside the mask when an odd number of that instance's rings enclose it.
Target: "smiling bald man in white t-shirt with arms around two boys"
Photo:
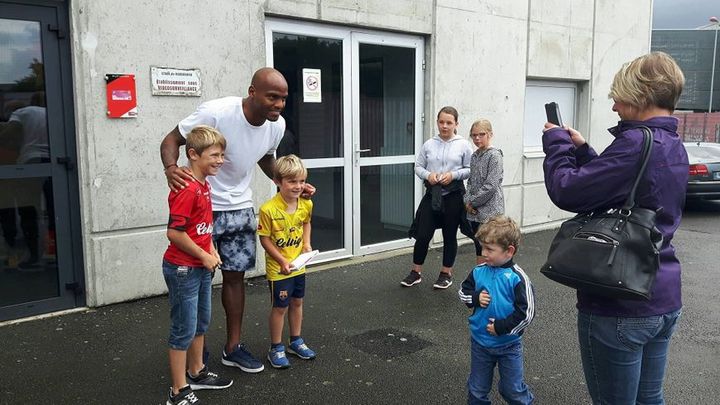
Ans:
[[[275,150],[285,132],[280,112],[285,108],[288,85],[273,68],[255,72],[248,96],[224,97],[201,104],[180,121],[160,145],[168,186],[178,190],[194,181],[186,168],[177,165],[185,136],[197,125],[209,125],[227,140],[225,163],[216,176],[207,180],[213,204],[213,240],[217,245],[223,274],[222,303],[225,308],[227,341],[222,363],[258,373],[265,367],[240,342],[245,308],[245,272],[255,267],[257,221],[252,203],[252,182],[257,163],[268,178],[273,178]],[[315,189],[306,187],[306,194]]]

